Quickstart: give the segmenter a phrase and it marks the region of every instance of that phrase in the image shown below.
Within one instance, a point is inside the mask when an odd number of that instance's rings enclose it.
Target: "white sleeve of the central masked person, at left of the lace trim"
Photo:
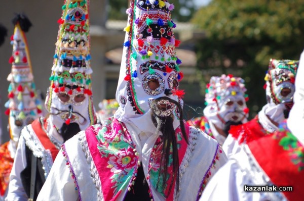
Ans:
[[[74,180],[60,150],[37,201],[75,201],[78,197]]]

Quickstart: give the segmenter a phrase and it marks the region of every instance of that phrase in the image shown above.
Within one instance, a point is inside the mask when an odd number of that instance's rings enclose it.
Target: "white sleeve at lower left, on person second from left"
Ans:
[[[27,195],[24,191],[20,173],[26,167],[26,157],[25,157],[25,141],[23,137],[20,137],[18,147],[16,150],[15,160],[10,174],[10,183],[8,196],[5,200],[15,201],[15,200],[27,200]]]

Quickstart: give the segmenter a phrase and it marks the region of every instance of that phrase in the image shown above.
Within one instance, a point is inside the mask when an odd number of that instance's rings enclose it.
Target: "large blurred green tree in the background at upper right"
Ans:
[[[304,48],[301,0],[213,0],[192,22],[206,33],[197,45],[203,85],[221,73],[243,77],[252,115],[266,102],[270,58],[298,60]]]

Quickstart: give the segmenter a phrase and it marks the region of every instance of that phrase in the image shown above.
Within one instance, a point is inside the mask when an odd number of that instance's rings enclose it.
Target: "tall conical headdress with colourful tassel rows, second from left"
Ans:
[[[89,1],[67,0],[62,10],[45,105],[51,114],[60,113],[66,124],[78,122],[81,129],[86,129],[96,121],[91,91]]]

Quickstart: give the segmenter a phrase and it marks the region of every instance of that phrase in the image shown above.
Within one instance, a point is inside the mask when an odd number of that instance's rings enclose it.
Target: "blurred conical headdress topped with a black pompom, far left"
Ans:
[[[18,141],[23,126],[31,123],[42,113],[40,100],[37,99],[29,51],[25,32],[31,26],[25,15],[16,15],[13,20],[14,34],[11,36],[13,53],[9,60],[12,71],[7,80],[10,83],[9,100],[5,104],[6,114],[10,116],[9,126],[11,138]]]

